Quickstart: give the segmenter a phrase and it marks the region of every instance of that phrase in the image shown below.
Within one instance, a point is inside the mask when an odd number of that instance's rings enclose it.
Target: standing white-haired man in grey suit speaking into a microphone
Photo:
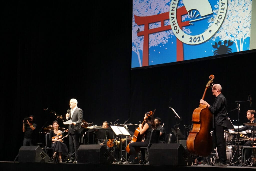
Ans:
[[[80,137],[80,132],[77,130],[81,128],[81,123],[83,120],[83,110],[77,107],[76,99],[70,99],[69,107],[71,109],[69,113],[66,114],[66,119],[71,119],[72,123],[68,125],[70,160],[67,162],[76,163]]]

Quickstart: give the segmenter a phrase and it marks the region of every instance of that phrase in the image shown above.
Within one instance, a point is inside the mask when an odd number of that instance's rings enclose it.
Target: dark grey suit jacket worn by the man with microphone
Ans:
[[[69,118],[68,120],[70,120],[71,117],[71,111],[69,112]],[[71,118],[72,122],[76,122],[76,125],[72,125],[69,124],[68,125],[68,134],[80,134],[81,131],[74,131],[77,130],[79,128],[81,128],[81,123],[83,120],[83,110],[80,108],[76,108],[76,110],[74,111],[72,118]]]

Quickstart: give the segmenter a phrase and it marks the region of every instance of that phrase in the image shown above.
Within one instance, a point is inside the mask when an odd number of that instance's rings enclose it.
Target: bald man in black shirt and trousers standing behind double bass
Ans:
[[[227,153],[224,130],[227,129],[226,117],[227,117],[227,100],[221,93],[221,85],[214,84],[212,86],[212,95],[216,97],[213,105],[211,106],[204,100],[200,100],[201,104],[207,105],[211,113],[213,113],[213,137],[218,152],[218,162],[214,163],[214,166],[227,166]]]

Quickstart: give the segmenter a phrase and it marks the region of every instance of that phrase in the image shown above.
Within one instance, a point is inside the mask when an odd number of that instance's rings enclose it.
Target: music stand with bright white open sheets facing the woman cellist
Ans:
[[[120,148],[119,148],[120,149],[120,153],[119,153],[120,161],[118,162],[118,164],[120,164],[123,161],[123,157],[122,157],[122,139],[126,138],[126,136],[130,136],[131,134],[123,126],[113,126],[113,125],[111,125],[110,127],[112,128],[114,133],[120,139]]]

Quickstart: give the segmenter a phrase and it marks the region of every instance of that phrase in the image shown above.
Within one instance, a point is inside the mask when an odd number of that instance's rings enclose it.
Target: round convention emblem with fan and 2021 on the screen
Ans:
[[[215,4],[214,4],[215,3]],[[179,5],[179,8],[177,8]],[[189,45],[201,44],[210,39],[223,23],[228,7],[228,0],[172,0],[170,3],[170,26],[174,35]],[[212,7],[216,7],[214,10]],[[186,29],[182,29],[182,28]],[[185,33],[186,32],[186,33]]]

